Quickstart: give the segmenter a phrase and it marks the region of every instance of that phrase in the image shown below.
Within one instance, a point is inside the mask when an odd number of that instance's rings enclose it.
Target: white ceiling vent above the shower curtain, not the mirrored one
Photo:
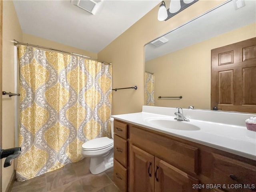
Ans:
[[[95,15],[102,0],[71,0],[71,3]]]

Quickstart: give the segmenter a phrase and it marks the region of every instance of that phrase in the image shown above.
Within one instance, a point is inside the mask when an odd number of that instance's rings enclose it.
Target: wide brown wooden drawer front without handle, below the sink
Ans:
[[[198,173],[199,149],[196,147],[134,126],[130,128],[130,142],[181,170]]]

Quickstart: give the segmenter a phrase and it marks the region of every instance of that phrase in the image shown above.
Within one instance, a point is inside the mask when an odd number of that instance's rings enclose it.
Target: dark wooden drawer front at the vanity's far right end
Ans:
[[[228,191],[247,192],[253,191],[252,188],[254,187],[256,189],[255,166],[219,154],[212,155],[213,168],[211,177],[216,184],[230,186]]]

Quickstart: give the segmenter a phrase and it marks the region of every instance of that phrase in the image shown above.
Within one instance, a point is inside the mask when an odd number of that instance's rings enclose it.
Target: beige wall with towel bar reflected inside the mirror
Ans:
[[[210,109],[211,50],[255,35],[254,23],[147,61],[145,70],[155,73],[155,106]],[[158,96],[183,98],[166,100]]]

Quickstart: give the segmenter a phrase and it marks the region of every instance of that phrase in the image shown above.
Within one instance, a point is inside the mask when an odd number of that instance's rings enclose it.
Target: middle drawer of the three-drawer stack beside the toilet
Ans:
[[[114,134],[114,158],[127,168],[127,141]]]

